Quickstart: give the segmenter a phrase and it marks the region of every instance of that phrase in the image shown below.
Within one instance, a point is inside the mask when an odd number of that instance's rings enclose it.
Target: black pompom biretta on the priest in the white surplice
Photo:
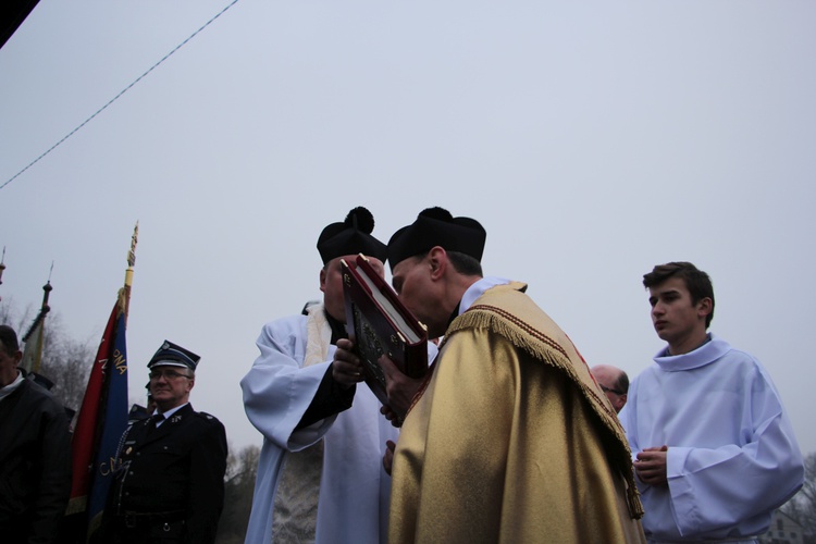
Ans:
[[[323,264],[344,255],[363,254],[385,262],[388,247],[374,238],[374,217],[362,206],[348,212],[342,223],[332,223],[323,228],[318,238],[318,251]]]

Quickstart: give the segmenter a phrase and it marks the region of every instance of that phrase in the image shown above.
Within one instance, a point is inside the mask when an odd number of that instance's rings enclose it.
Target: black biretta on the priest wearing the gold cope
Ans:
[[[426,208],[419,213],[417,221],[391,237],[391,270],[405,259],[423,254],[434,246],[468,255],[481,262],[486,237],[484,227],[474,219],[454,218],[449,211],[440,207]]]

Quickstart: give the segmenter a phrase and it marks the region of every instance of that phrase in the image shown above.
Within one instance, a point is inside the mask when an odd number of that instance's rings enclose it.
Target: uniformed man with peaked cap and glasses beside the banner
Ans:
[[[102,542],[212,544],[224,505],[226,432],[189,394],[200,357],[164,341],[147,363],[156,409],[125,431]]]

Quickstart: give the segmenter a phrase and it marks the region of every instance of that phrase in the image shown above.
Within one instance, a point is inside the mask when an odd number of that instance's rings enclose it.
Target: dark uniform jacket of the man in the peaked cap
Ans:
[[[224,504],[224,425],[188,404],[152,426],[147,419],[125,432],[106,518],[119,520],[114,532],[128,516],[140,526],[181,519],[186,534],[180,542],[213,542]],[[145,516],[151,512],[156,516]]]

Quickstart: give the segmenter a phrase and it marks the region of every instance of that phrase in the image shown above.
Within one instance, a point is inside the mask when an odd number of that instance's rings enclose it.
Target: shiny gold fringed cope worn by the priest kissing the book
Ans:
[[[511,283],[456,318],[403,425],[390,542],[645,542],[629,446],[567,335]]]

